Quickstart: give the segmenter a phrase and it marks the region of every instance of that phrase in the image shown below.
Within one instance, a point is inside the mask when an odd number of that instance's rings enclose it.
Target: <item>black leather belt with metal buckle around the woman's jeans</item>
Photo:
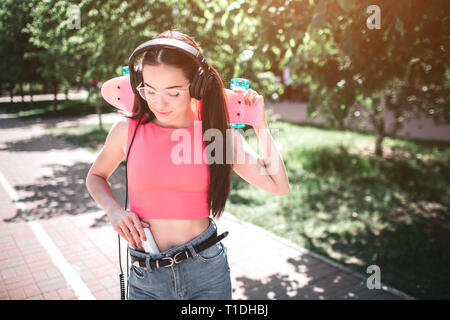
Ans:
[[[225,238],[228,235],[228,231],[225,231],[221,235],[217,235],[217,231],[214,232],[214,234],[203,241],[202,243],[199,243],[194,247],[195,252],[202,252],[205,249],[208,249],[209,247],[215,245],[217,242],[221,241],[223,238]],[[131,261],[133,262],[134,266],[139,266],[142,268],[146,268],[147,264],[145,263],[145,259],[142,259],[140,257],[135,257],[130,253]],[[171,257],[164,257],[159,260],[150,260],[150,267],[152,268],[161,268],[161,267],[171,267],[174,264],[178,264],[180,262],[183,262],[187,258],[192,257],[191,252],[186,249],[185,251],[178,252],[174,254]]]

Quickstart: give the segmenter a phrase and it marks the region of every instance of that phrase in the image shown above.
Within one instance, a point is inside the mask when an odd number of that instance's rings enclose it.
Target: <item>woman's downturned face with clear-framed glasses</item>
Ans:
[[[144,83],[142,86],[155,90],[158,93],[167,89],[183,90],[189,84],[179,68],[166,64],[158,66],[144,65]],[[165,92],[153,94],[147,100],[147,105],[155,114],[157,123],[173,126],[183,126],[191,119],[189,87],[184,92]]]

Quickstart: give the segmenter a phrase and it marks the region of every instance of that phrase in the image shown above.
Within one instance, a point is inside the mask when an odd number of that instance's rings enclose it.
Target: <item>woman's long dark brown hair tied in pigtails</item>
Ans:
[[[164,31],[158,35],[158,38],[171,38],[181,40],[195,49],[200,51],[200,48],[195,41],[188,35],[178,30]],[[187,53],[180,52],[170,48],[155,48],[146,51],[142,58],[142,67],[144,65],[159,65],[161,63],[179,68],[182,70],[184,76],[192,82],[194,75],[198,69],[198,64],[194,58]],[[224,84],[219,73],[210,65],[213,77],[210,79],[209,86],[203,98],[197,103],[197,116],[202,121],[202,136],[208,129],[220,130],[223,143],[221,154],[223,155],[221,163],[216,163],[212,160],[216,156],[217,150],[213,149],[216,154],[208,155],[209,158],[209,186],[208,186],[208,203],[213,217],[219,218],[224,209],[225,204],[230,194],[231,189],[231,174],[232,164],[228,163],[227,159],[233,159],[233,148],[231,144],[231,136],[227,135],[227,128],[229,117],[228,109],[224,96]],[[143,68],[141,69],[143,70]],[[192,98],[192,100],[195,100]],[[198,101],[197,101],[198,102]],[[192,106],[192,104],[191,104]],[[130,119],[140,119],[144,117],[141,124],[152,121],[156,116],[147,106],[147,102],[142,99],[139,94],[134,97],[134,105],[131,115],[122,113],[125,117]],[[205,141],[207,147],[210,143],[214,143],[215,138],[211,141]],[[220,144],[219,144],[220,145]],[[216,145],[217,147],[217,145]],[[218,156],[219,157],[219,156]],[[220,159],[220,157],[219,157]],[[192,208],[195,210],[195,208]]]

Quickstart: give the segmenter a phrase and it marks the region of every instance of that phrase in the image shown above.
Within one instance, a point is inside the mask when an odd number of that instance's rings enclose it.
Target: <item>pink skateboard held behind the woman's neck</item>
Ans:
[[[134,103],[134,94],[131,90],[130,76],[112,78],[106,81],[101,89],[103,99],[113,107],[131,112]],[[232,91],[225,89],[225,98],[228,104],[230,126],[242,128],[244,124],[256,125],[261,121],[262,105],[257,101],[254,105],[244,103],[245,91]]]

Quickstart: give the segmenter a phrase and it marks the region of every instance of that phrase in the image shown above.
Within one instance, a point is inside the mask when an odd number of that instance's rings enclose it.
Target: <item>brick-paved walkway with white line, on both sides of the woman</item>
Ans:
[[[97,117],[71,122],[0,115],[0,299],[120,299],[117,234],[85,187],[95,155],[45,131],[79,121],[95,124]],[[121,168],[109,179],[119,203],[123,179]],[[233,299],[411,298],[384,285],[369,290],[369,275],[351,273],[230,213],[218,226],[230,231],[224,244]]]

